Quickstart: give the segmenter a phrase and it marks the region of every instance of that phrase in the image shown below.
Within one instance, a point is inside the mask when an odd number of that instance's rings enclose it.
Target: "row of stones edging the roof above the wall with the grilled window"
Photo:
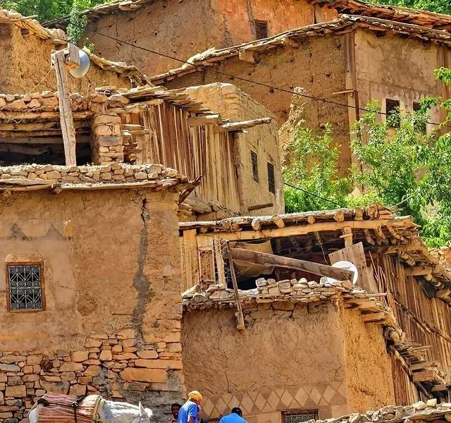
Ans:
[[[129,164],[111,163],[102,166],[56,166],[21,165],[0,167],[0,190],[11,186],[44,185],[70,188],[71,185],[95,186],[99,184],[142,183],[146,186],[171,187],[186,183],[187,178],[178,171],[165,168],[160,164]]]

